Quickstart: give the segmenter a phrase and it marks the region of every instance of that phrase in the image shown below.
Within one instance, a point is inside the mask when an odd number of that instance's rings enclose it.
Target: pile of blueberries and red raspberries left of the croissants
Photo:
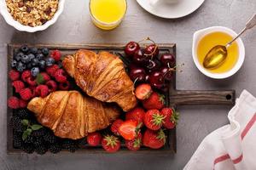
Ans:
[[[57,89],[68,90],[67,73],[61,69],[61,53],[48,48],[15,50],[9,78],[14,87],[14,96],[8,99],[12,109],[26,108],[27,102],[37,96],[45,97]]]

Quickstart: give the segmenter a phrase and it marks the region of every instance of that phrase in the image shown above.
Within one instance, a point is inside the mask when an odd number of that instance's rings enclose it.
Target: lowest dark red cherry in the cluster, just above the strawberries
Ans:
[[[149,82],[154,88],[162,88],[165,84],[163,73],[160,71],[153,71],[149,76]]]

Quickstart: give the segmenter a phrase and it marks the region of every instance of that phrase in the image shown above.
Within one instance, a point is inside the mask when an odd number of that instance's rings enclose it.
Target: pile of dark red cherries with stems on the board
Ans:
[[[160,54],[159,47],[153,42],[141,48],[139,42],[128,42],[125,54],[131,60],[129,76],[133,82],[148,82],[152,88],[166,91],[172,81],[176,60],[173,54]]]

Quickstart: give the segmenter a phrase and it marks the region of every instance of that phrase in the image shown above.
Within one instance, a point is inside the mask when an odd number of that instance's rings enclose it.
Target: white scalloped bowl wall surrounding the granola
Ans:
[[[64,9],[64,3],[65,3],[65,0],[59,0],[58,10],[56,11],[55,15],[51,20],[48,20],[42,26],[34,26],[34,27],[24,26],[20,24],[19,21],[14,20],[12,15],[8,12],[8,8],[5,3],[5,0],[0,0],[0,13],[3,15],[4,20],[9,24],[9,26],[13,26],[15,27],[15,29],[19,31],[27,31],[27,32],[43,31],[47,29],[49,26],[53,25],[55,21],[59,18],[59,16],[61,15]]]

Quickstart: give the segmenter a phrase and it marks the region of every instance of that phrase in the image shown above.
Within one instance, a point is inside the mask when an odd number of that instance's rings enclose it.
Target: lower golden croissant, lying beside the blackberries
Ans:
[[[56,136],[68,139],[81,139],[106,128],[119,116],[117,107],[82,96],[78,91],[56,91],[45,98],[34,98],[27,109]]]

